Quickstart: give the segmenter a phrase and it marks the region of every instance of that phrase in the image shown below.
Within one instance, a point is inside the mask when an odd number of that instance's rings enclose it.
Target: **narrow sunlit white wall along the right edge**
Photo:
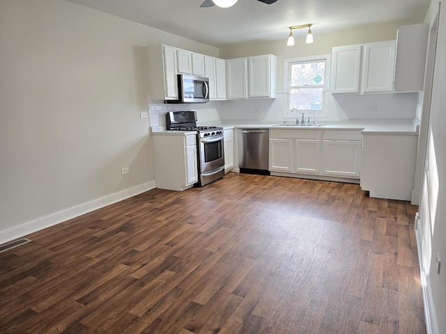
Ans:
[[[438,13],[432,0],[426,15],[431,22]],[[428,143],[420,202],[418,244],[422,251],[422,278],[427,301],[429,333],[446,333],[446,8],[442,3],[433,73]],[[425,99],[427,97],[424,97]],[[437,253],[443,264],[437,273]]]

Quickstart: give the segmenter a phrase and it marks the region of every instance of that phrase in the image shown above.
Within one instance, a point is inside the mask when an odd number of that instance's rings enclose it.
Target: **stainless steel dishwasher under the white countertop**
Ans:
[[[268,129],[238,130],[240,173],[270,175],[268,171]]]

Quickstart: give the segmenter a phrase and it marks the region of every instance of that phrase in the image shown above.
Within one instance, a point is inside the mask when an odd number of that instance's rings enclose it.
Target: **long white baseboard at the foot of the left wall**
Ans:
[[[47,214],[46,216],[34,219],[33,221],[27,221],[14,226],[13,228],[0,230],[0,244],[24,237],[27,234],[43,230],[44,228],[49,228],[49,226],[68,221],[77,216],[82,216],[82,214],[87,214],[96,209],[100,209],[101,207],[106,207],[107,205],[137,196],[139,193],[144,193],[155,188],[155,180],[144,184],[138,184],[137,186],[131,186],[130,188],[116,191],[116,193],[110,193],[109,195],[96,198],[89,202],[84,202],[73,207],[62,209],[58,212],[53,212],[52,214]]]

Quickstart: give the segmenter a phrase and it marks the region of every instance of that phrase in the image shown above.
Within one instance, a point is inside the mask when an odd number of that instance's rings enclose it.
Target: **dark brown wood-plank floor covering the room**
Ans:
[[[0,333],[426,333],[408,202],[227,174],[0,254]]]

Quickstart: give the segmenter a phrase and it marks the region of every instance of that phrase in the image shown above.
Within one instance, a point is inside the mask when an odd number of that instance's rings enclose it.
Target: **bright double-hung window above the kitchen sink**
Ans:
[[[330,78],[330,55],[285,59],[284,76],[287,93],[285,117],[298,111],[324,115],[325,87]]]

